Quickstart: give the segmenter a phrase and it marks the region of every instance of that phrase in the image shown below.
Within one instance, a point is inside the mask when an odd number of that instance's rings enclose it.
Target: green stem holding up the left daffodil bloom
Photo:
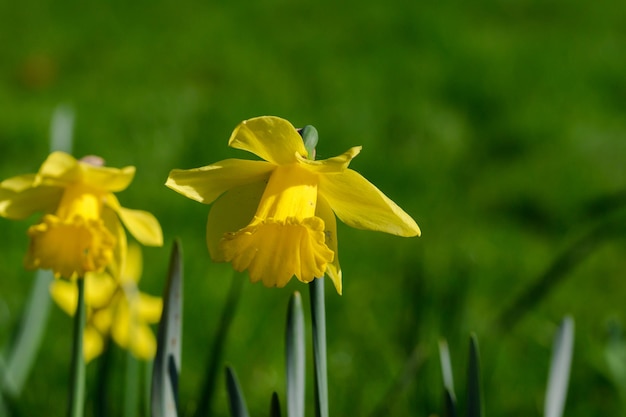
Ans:
[[[78,302],[74,314],[74,342],[70,373],[69,417],[82,417],[85,410],[85,357],[83,356],[83,329],[85,328],[85,279],[76,280]]]

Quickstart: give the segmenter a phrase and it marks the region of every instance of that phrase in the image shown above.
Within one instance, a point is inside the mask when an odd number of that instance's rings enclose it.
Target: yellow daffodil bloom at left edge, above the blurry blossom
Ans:
[[[113,194],[133,179],[135,167],[102,166],[98,157],[48,156],[39,172],[0,183],[0,216],[24,219],[43,212],[28,230],[27,268],[52,269],[56,276],[82,277],[119,264],[126,234],[121,222],[145,245],[161,246],[161,226],[152,214],[120,205]]]

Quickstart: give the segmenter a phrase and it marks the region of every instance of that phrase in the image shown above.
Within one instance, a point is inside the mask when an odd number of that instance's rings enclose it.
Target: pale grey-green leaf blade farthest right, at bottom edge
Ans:
[[[561,322],[552,345],[552,360],[543,414],[561,417],[567,399],[567,385],[574,353],[574,320],[567,316]]]

